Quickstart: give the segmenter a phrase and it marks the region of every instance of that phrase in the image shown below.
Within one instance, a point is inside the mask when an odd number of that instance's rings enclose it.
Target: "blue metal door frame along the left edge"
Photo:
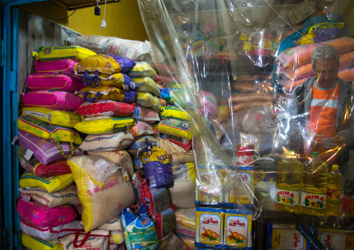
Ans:
[[[17,146],[11,141],[17,135],[17,70],[18,6],[46,0],[1,0],[1,162],[3,194],[0,195],[0,249],[21,249],[20,217],[15,212],[19,196]],[[2,208],[2,210],[1,210]]]

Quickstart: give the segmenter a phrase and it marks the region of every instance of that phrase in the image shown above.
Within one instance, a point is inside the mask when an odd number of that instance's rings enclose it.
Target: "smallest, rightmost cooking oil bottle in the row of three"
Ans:
[[[339,166],[333,165],[332,171],[328,173],[328,186],[327,186],[327,215],[339,215],[341,207],[341,173]]]

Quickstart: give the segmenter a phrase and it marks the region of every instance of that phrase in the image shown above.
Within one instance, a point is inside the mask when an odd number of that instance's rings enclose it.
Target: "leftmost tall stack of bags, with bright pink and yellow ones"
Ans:
[[[84,85],[73,68],[93,54],[82,47],[42,47],[34,54],[36,73],[26,79],[29,92],[17,120],[17,155],[27,171],[20,177],[17,211],[22,242],[30,249],[59,248],[59,237],[84,231],[72,206],[80,201],[66,159],[82,155],[76,147],[82,139],[72,128],[81,116],[72,111],[82,104],[73,92]]]

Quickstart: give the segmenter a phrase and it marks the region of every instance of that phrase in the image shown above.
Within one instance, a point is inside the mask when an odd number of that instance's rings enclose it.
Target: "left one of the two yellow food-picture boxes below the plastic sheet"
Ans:
[[[223,242],[224,210],[220,208],[196,208],[196,247],[221,245]]]

